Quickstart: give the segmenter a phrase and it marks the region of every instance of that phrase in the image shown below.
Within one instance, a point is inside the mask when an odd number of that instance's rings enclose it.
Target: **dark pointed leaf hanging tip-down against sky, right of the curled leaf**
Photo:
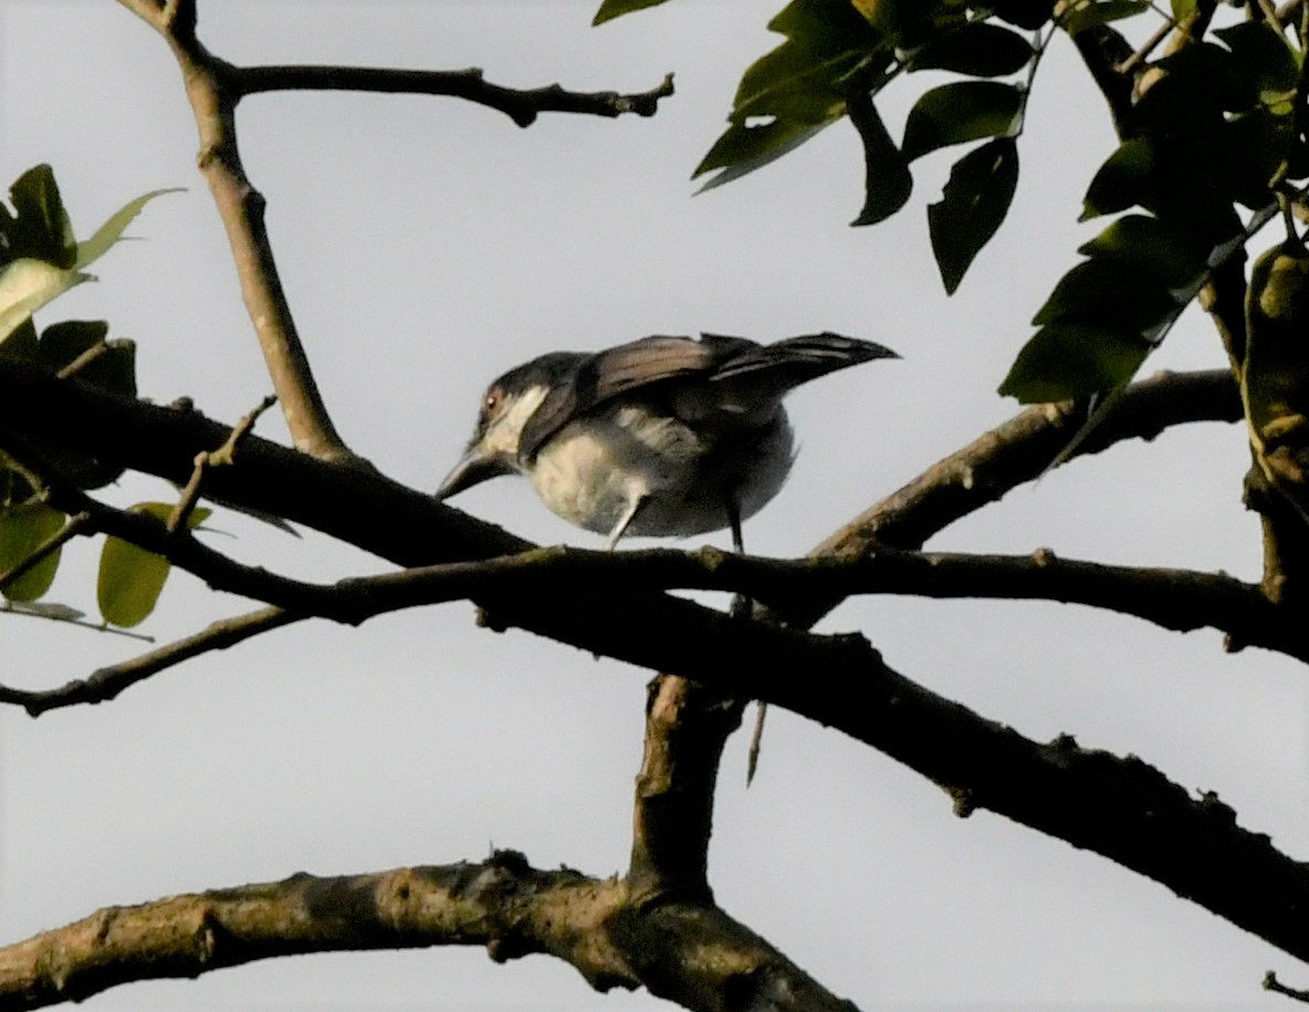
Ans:
[[[953,293],[1013,202],[1018,185],[1018,144],[996,137],[970,151],[950,170],[940,203],[927,208],[932,253],[945,291]]]

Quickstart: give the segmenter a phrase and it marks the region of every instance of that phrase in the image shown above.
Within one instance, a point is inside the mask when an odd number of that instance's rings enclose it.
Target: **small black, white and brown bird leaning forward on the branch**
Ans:
[[[800,384],[890,348],[838,334],[762,346],[652,336],[596,353],[551,352],[487,389],[476,429],[437,499],[525,474],[571,524],[609,535],[687,537],[741,521],[795,458],[781,401]]]

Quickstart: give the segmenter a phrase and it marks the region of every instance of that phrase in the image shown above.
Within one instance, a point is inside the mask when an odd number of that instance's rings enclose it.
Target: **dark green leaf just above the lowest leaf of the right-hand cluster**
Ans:
[[[1121,262],[1094,259],[1083,261],[1060,278],[1031,322],[1039,326],[1073,317],[1149,335],[1177,308],[1162,281]]]

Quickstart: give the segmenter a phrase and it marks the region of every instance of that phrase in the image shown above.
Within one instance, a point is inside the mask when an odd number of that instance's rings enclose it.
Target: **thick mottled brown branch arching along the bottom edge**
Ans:
[[[704,1012],[855,1012],[711,905],[641,907],[622,880],[538,871],[513,851],[106,907],[0,949],[0,1009],[278,956],[433,945],[483,945],[496,961],[550,953],[598,991],[644,986]]]

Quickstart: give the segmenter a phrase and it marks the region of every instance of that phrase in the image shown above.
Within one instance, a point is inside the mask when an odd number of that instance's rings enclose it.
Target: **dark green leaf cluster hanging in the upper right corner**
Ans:
[[[596,21],[657,3],[605,0]],[[1085,259],[1035,313],[1038,330],[1000,391],[1039,402],[1113,390],[1208,272],[1242,253],[1254,229],[1241,212],[1262,224],[1309,178],[1304,39],[1257,4],[1246,21],[1210,31],[1212,8],[1174,0],[1174,42],[1151,59],[1157,41],[1132,54],[1110,27],[1156,17],[1147,0],[792,0],[768,24],[784,42],[745,71],[728,128],[695,175],[707,177],[704,189],[730,182],[848,117],[865,162],[853,224],[872,225],[908,202],[915,161],[971,144],[927,208],[937,268],[954,292],[1012,206],[1018,141],[1050,41],[1063,33],[1080,50],[1107,42],[1117,55],[1101,54],[1092,72],[1126,96],[1111,109],[1122,143],[1096,173],[1083,220],[1122,216],[1079,250]],[[897,140],[876,99],[918,71],[962,80],[923,90]]]

